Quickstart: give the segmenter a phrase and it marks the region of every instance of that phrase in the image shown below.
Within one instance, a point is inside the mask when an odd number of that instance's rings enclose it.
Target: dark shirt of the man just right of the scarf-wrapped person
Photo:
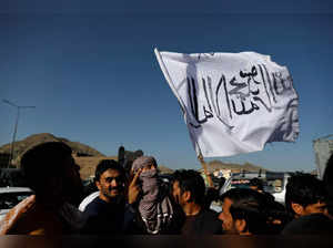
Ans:
[[[198,215],[186,216],[182,235],[219,235],[222,234],[222,221],[218,213],[211,209],[202,209]]]

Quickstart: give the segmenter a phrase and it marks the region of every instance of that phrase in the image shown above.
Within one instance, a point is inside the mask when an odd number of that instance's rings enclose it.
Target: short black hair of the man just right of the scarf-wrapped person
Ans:
[[[174,182],[179,182],[181,194],[190,192],[190,200],[200,205],[203,204],[205,185],[199,172],[194,169],[178,169],[172,175],[172,183]]]

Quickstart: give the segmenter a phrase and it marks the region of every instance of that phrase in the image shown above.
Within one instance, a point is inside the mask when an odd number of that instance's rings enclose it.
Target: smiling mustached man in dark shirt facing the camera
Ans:
[[[99,196],[87,205],[84,234],[122,234],[125,215],[125,173],[113,159],[101,161],[95,169]]]

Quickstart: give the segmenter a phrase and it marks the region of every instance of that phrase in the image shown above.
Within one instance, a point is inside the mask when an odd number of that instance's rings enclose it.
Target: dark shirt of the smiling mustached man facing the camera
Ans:
[[[83,234],[123,234],[125,203],[107,203],[100,197],[87,205]]]

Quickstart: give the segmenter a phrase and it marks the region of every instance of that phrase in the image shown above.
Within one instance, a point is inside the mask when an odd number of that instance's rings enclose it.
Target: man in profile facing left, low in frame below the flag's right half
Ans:
[[[219,218],[229,235],[269,234],[265,215],[266,198],[250,188],[233,188],[221,196],[222,213]]]

